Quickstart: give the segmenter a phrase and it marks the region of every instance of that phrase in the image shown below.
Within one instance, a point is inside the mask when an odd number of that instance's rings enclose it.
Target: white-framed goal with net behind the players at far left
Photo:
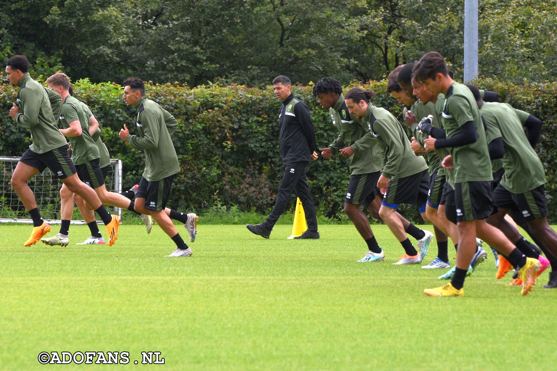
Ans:
[[[10,180],[17,162],[21,157],[0,157],[0,223],[16,222],[32,224],[25,206],[13,190]],[[60,224],[60,188],[62,181],[48,168],[32,177],[27,185],[35,194],[42,219],[48,224]],[[110,170],[105,179],[106,190],[120,193],[122,191],[122,161],[110,159]],[[75,205],[74,205],[75,206]],[[113,207],[113,206],[110,206]],[[77,210],[75,207],[74,210]],[[114,207],[114,213],[122,216],[122,210]],[[81,215],[74,212],[74,216]],[[86,224],[85,220],[72,218],[71,224]]]

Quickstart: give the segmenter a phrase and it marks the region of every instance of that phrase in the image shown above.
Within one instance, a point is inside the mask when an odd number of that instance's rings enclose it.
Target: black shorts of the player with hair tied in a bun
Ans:
[[[430,183],[427,170],[392,180],[383,196],[383,205],[392,209],[397,209],[399,204],[422,206],[427,201]]]

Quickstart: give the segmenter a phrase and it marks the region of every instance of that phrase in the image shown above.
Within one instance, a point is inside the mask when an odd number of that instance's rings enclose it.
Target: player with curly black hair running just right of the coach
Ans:
[[[348,184],[348,191],[344,200],[344,212],[354,223],[354,226],[368,245],[368,252],[358,260],[359,262],[384,260],[385,254],[379,247],[369,220],[360,205],[369,210],[372,217],[381,220],[379,208],[383,195],[377,188],[377,181],[384,164],[384,151],[377,145],[375,137],[369,134],[369,123],[358,119],[349,113],[344,103],[343,89],[340,82],[332,77],[324,77],[317,81],[313,88],[314,96],[325,110],[329,110],[333,125],[338,128],[340,135],[327,148],[319,149],[325,159],[333,154],[340,154],[350,160],[352,175]],[[416,235],[414,238],[426,239],[426,233],[412,225],[398,212],[397,217],[402,221],[407,233]],[[412,236],[414,236],[412,235]],[[424,241],[419,241],[423,244]]]

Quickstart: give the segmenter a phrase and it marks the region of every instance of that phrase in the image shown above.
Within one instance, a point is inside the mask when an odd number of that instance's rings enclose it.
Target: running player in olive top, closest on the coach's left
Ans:
[[[120,130],[120,139],[145,153],[145,171],[135,197],[135,211],[151,215],[161,229],[174,241],[176,249],[166,256],[190,256],[192,249],[185,244],[172,219],[184,223],[189,241],[196,239],[197,215],[170,210],[166,207],[174,175],[180,171],[178,156],[170,135],[178,121],[157,102],[145,97],[145,85],[139,77],[124,80],[124,101],[138,110],[137,130],[131,135],[128,127]]]

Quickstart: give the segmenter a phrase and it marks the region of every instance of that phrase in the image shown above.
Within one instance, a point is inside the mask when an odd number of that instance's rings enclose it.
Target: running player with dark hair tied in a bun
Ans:
[[[370,128],[367,136],[375,137],[385,151],[385,166],[377,181],[377,187],[384,194],[379,216],[405,251],[402,258],[394,264],[419,264],[427,254],[433,234],[422,230],[423,235],[418,240],[418,254],[408,239],[396,210],[400,204],[410,204],[419,206],[420,213],[425,214],[429,190],[426,160],[414,154],[398,120],[384,108],[371,104],[370,98],[373,95],[371,90],[351,88],[345,96],[346,107],[354,116],[364,119]]]

